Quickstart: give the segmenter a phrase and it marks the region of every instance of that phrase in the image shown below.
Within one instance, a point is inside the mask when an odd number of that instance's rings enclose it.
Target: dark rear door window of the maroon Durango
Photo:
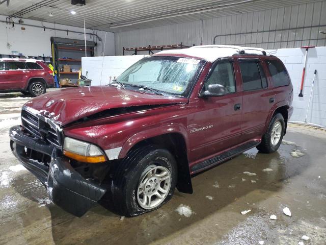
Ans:
[[[265,74],[259,62],[241,61],[239,63],[243,91],[257,90],[267,87]]]

